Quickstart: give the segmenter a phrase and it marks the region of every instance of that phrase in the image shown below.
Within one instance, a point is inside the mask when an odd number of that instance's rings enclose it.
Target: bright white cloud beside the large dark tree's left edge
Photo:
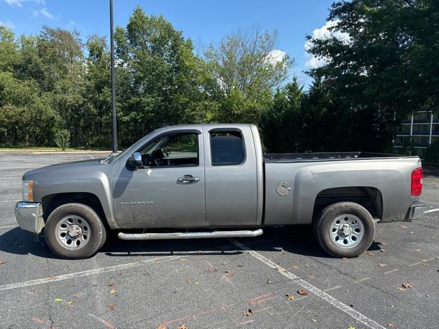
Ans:
[[[340,39],[344,42],[349,41],[349,35],[347,33],[337,31],[336,29],[333,29],[332,31],[329,30],[331,27],[336,27],[338,22],[338,20],[327,21],[327,23],[325,23],[319,29],[313,30],[311,40],[307,40],[303,45],[303,48],[305,49],[305,58],[307,59],[307,61],[305,62],[306,66],[310,67],[311,69],[317,69],[318,67],[323,66],[328,62],[327,58],[318,58],[311,55],[310,53],[307,53],[307,51],[311,48],[313,44],[313,40],[332,38],[335,36],[335,38]]]

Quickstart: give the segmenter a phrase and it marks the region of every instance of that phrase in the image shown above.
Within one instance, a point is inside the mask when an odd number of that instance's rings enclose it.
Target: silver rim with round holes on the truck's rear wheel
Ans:
[[[342,248],[355,247],[364,237],[363,222],[351,214],[336,217],[331,223],[329,231],[332,242]]]

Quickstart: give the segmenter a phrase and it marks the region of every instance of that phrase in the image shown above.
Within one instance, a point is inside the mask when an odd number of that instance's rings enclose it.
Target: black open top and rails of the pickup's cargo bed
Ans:
[[[370,152],[272,153],[263,155],[263,161],[265,163],[364,160],[376,158],[416,158],[416,156]]]

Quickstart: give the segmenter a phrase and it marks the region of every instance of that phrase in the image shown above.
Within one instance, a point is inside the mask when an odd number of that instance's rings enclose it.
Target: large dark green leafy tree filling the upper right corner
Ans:
[[[326,62],[311,75],[337,103],[344,147],[386,151],[403,117],[438,108],[438,10],[435,0],[337,1],[331,36],[308,37]]]

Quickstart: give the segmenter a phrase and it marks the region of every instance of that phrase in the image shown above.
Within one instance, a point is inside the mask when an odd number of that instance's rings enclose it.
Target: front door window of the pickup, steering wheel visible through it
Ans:
[[[198,134],[179,133],[160,136],[141,150],[147,167],[198,166]]]

